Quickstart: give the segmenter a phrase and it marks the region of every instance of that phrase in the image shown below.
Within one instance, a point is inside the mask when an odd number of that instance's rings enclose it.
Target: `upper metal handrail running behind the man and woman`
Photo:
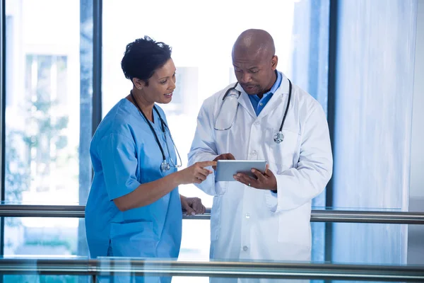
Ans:
[[[3,217],[79,217],[85,216],[83,205],[24,205],[0,204],[0,216]],[[205,214],[189,216],[184,219],[210,219],[211,209]],[[312,222],[346,222],[375,224],[424,224],[423,212],[379,212],[379,211],[341,211],[314,209]]]

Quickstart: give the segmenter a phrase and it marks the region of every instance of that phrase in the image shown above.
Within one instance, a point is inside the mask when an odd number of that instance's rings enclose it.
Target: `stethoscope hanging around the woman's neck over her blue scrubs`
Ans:
[[[165,137],[166,149],[167,149],[167,152],[168,152],[168,154],[170,156],[170,162],[171,162],[171,164],[169,162],[167,162],[167,160],[166,160],[165,151],[163,151],[163,147],[160,145],[158,134],[156,134],[155,129],[153,129],[153,126],[151,125],[151,122],[147,119],[146,115],[144,115],[143,111],[141,111],[141,108],[139,106],[139,103],[137,103],[136,98],[134,98],[134,95],[133,95],[132,91],[130,92],[130,95],[131,95],[132,100],[136,104],[137,109],[139,109],[139,112],[143,116],[144,120],[146,120],[147,125],[150,127],[151,131],[153,132],[153,136],[155,136],[156,143],[159,146],[160,153],[162,154],[162,163],[160,163],[160,171],[168,171],[168,170],[170,170],[171,167],[175,167],[175,168],[181,167],[181,165],[182,165],[181,156],[179,156],[179,152],[178,152],[177,146],[175,145],[175,142],[172,139],[170,128],[167,127],[165,121],[162,119],[162,116],[160,116],[160,113],[159,113],[158,108],[156,108],[156,106],[153,105],[153,109],[158,114],[158,117],[159,117],[159,120],[160,120],[160,128],[162,129],[163,137]],[[174,161],[172,161],[170,149],[168,148],[168,145],[167,145],[166,129],[168,130],[168,133],[170,135],[170,139],[172,141],[172,144],[174,145],[175,151],[177,151],[177,156],[178,156],[178,159],[179,159],[179,164],[178,164],[178,162],[175,164]]]

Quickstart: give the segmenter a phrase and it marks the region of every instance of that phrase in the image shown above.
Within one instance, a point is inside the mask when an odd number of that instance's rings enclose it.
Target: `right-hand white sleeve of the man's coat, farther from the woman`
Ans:
[[[269,191],[266,205],[271,212],[295,209],[319,195],[333,173],[329,127],[321,105],[305,122],[297,168],[276,175],[277,193]]]

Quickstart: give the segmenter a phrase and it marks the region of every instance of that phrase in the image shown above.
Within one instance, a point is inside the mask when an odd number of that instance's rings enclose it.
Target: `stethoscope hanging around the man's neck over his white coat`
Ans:
[[[237,87],[238,83],[235,83],[235,85],[232,88],[228,88],[228,90],[225,92],[223,99],[221,100],[220,107],[218,110],[218,113],[216,114],[215,121],[213,122],[213,128],[217,131],[226,131],[234,125],[235,117],[237,116],[237,110],[238,110],[238,98],[240,97],[241,92],[237,91],[235,89]],[[287,117],[288,108],[290,107],[290,100],[291,100],[291,93],[292,93],[292,83],[288,79],[288,103],[287,107],[285,108],[283,120],[281,121],[280,129],[276,134],[273,135],[273,140],[276,142],[276,144],[281,144],[284,140],[284,134],[283,134],[283,125],[285,122],[285,117]],[[228,101],[228,104],[225,105],[225,102]],[[235,110],[234,110],[235,108]],[[223,115],[232,115],[230,119],[227,119],[226,122],[221,122],[219,117]],[[225,118],[223,119],[225,120]],[[222,124],[222,125],[221,125]]]

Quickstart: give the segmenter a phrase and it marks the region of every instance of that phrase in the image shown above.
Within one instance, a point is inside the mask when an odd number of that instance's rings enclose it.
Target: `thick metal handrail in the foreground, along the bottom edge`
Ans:
[[[131,258],[0,259],[0,275],[135,275],[424,282],[424,266],[304,262],[187,262]]]

